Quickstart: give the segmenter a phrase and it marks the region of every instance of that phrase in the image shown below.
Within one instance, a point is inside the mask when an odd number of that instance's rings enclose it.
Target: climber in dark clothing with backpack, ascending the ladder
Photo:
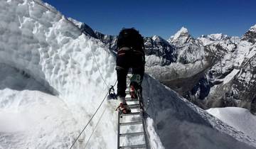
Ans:
[[[120,101],[119,110],[124,114],[131,112],[125,101],[127,88],[127,73],[132,69],[129,93],[132,99],[137,99],[137,91],[142,94],[142,80],[144,77],[145,53],[144,40],[139,31],[134,28],[123,28],[117,39],[117,100]]]

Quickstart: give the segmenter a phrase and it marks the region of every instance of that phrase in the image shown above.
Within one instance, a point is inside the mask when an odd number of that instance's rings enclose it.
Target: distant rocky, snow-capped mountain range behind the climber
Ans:
[[[117,36],[93,31],[69,18],[80,30],[117,50]],[[239,106],[256,113],[256,25],[241,38],[221,33],[193,38],[182,27],[164,40],[145,37],[146,72],[201,106]]]

